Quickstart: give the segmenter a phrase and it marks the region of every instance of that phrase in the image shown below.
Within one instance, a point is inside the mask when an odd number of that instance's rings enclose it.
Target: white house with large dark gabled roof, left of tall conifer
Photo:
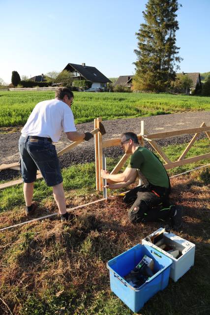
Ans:
[[[71,72],[73,80],[88,80],[92,82],[92,88],[106,87],[108,82],[111,83],[98,69],[85,63],[68,63],[63,70]]]

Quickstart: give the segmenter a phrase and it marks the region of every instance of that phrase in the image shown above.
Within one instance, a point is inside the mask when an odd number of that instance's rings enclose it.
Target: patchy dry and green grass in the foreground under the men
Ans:
[[[184,145],[164,151],[175,160]],[[187,157],[208,151],[196,142]],[[111,170],[116,160],[108,159]],[[199,161],[170,175],[207,164]],[[68,207],[101,198],[94,191],[94,163],[63,170]],[[85,188],[84,188],[85,186]],[[210,168],[172,179],[172,200],[184,207],[184,226],[176,233],[196,244],[195,265],[177,283],[169,281],[139,312],[141,315],[207,315],[210,312]],[[57,211],[52,190],[35,183],[36,217]],[[110,192],[109,192],[110,194]],[[26,221],[22,185],[0,191],[0,228]],[[76,213],[76,212],[75,212]],[[71,223],[37,221],[0,232],[0,314],[129,315],[110,291],[106,262],[141,242],[159,223],[132,225],[120,198],[77,210]],[[10,311],[9,311],[10,310]]]

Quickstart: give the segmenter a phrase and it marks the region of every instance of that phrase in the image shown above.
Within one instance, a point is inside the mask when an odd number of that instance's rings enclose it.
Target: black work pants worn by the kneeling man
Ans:
[[[169,204],[170,189],[143,185],[131,189],[123,200],[132,204],[128,211],[131,222],[165,221],[174,215],[174,207]]]

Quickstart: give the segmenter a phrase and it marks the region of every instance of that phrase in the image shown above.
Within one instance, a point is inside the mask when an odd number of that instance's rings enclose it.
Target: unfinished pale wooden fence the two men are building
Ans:
[[[94,129],[91,131],[94,134],[94,146],[95,146],[95,181],[96,181],[96,190],[102,191],[103,187],[103,180],[100,176],[100,171],[103,168],[102,167],[102,149],[113,147],[113,146],[119,146],[120,145],[120,138],[114,138],[114,139],[108,139],[103,140],[101,133],[98,131],[97,128],[99,128],[99,122],[102,122],[101,118],[94,119]],[[190,128],[190,129],[181,129],[181,130],[175,130],[175,131],[165,131],[165,132],[159,132],[159,133],[151,133],[149,134],[144,126],[144,121],[141,121],[141,127],[140,127],[140,133],[137,135],[138,139],[140,141],[141,146],[144,146],[144,142],[148,141],[152,148],[158,153],[158,155],[163,158],[165,161],[164,167],[165,169],[174,168],[177,166],[185,165],[188,163],[197,162],[201,159],[207,159],[210,158],[210,153],[206,153],[200,156],[196,156],[193,158],[184,158],[187,154],[187,152],[190,150],[194,142],[196,141],[197,137],[201,132],[205,132],[208,139],[210,140],[210,126],[206,126],[205,123],[203,123],[200,127],[197,128]],[[167,137],[172,136],[178,136],[181,134],[193,134],[194,136],[191,139],[191,141],[188,143],[187,147],[184,149],[180,157],[177,161],[172,162],[170,158],[162,151],[162,149],[159,147],[159,145],[155,142],[155,139],[163,139]],[[67,147],[62,149],[58,152],[58,156],[60,157],[64,153],[67,153],[68,151],[75,148],[78,144],[80,144],[83,141],[75,141],[69,144]],[[130,154],[124,154],[118,164],[114,167],[111,174],[117,174],[126,160],[129,158]],[[4,169],[15,169],[19,170],[19,163],[11,163],[11,164],[1,164],[0,165],[0,171]],[[39,171],[37,171],[36,179],[42,178],[42,175]],[[22,180],[15,180],[10,181],[7,183],[0,184],[0,189],[4,189],[7,187],[12,187],[15,185],[22,184]]]

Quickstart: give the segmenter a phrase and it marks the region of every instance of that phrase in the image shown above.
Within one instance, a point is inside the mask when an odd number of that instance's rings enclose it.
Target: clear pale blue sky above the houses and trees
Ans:
[[[135,32],[147,0],[0,0],[0,78],[32,77],[67,63],[107,77],[134,74]],[[210,0],[180,0],[180,71],[210,71]]]

